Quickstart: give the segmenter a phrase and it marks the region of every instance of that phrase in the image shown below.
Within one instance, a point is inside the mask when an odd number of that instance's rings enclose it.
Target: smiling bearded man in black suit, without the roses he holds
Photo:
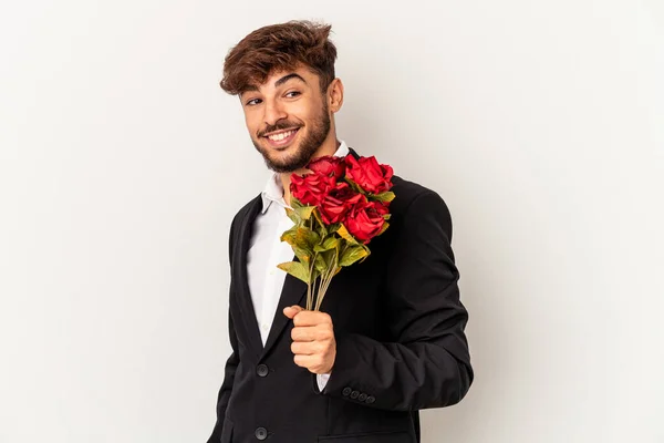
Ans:
[[[291,174],[312,158],[359,154],[336,140],[343,85],[329,25],[258,29],[227,55],[221,87],[240,99],[249,135],[274,172],[235,216],[229,336],[208,443],[419,442],[418,410],[459,402],[473,381],[443,199],[394,176],[390,228],[332,279],[321,311],[277,268],[292,226]]]

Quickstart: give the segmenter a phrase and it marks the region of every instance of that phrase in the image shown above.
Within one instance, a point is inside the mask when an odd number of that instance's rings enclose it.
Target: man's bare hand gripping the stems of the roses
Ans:
[[[336,340],[332,318],[320,311],[308,311],[301,306],[283,309],[283,315],[293,320],[291,351],[295,364],[315,374],[332,372],[336,358]]]

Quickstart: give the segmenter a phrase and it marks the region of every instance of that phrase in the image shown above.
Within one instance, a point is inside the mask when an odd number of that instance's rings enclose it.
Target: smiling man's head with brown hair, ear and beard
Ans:
[[[334,76],[330,28],[308,21],[260,28],[226,56],[220,85],[239,95],[251,141],[276,172],[304,167],[321,146],[335,148],[343,85]]]

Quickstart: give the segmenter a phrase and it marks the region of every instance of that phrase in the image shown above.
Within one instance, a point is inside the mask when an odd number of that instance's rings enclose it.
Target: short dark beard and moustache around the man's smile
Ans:
[[[279,130],[286,130],[289,127],[301,127],[300,124],[290,122],[288,120],[279,121],[273,126],[267,127],[261,133],[268,133]],[[300,130],[301,131],[301,130]],[[292,173],[300,168],[303,168],[309,164],[313,154],[323,144],[328,134],[330,133],[330,115],[328,113],[328,103],[323,101],[323,107],[321,114],[312,121],[309,125],[309,130],[304,138],[300,141],[298,146],[293,146],[297,151],[282,158],[271,158],[270,148],[263,148],[261,144],[253,137],[251,143],[256,150],[262,155],[266,166],[276,173]],[[300,135],[300,134],[298,134]]]

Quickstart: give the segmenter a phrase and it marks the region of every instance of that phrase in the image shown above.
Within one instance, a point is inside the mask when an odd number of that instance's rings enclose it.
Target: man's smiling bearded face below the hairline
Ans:
[[[326,94],[307,68],[273,72],[240,101],[251,142],[274,172],[304,167],[330,133]]]

